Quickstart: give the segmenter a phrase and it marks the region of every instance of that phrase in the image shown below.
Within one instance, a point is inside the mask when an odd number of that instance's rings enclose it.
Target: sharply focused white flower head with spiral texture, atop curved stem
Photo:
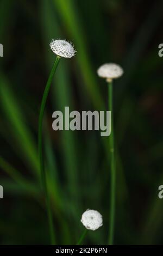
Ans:
[[[52,51],[60,57],[71,58],[76,53],[73,45],[65,40],[52,39],[50,46]]]

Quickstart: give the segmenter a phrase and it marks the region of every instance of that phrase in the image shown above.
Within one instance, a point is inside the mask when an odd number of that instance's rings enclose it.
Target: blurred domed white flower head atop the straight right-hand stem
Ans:
[[[115,63],[106,63],[99,67],[97,74],[100,77],[106,78],[107,82],[110,82],[114,78],[121,77],[123,75],[123,69]]]

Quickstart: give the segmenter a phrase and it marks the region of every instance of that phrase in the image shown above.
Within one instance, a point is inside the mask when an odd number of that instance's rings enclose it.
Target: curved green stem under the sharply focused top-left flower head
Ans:
[[[41,183],[42,183],[43,191],[45,193],[45,198],[46,198],[49,232],[50,232],[50,235],[51,235],[52,245],[55,244],[55,235],[54,235],[54,228],[53,228],[53,215],[52,215],[52,209],[51,209],[51,204],[50,204],[50,199],[49,199],[49,194],[48,194],[48,189],[47,189],[46,172],[45,172],[45,166],[44,166],[44,160],[43,160],[42,123],[43,123],[43,114],[45,112],[47,96],[48,96],[48,93],[49,93],[49,89],[51,88],[52,79],[53,79],[55,71],[58,67],[59,60],[60,60],[60,57],[57,56],[57,58],[55,59],[51,74],[49,75],[45,91],[43,93],[41,107],[40,107],[40,115],[39,115],[39,136],[38,136]]]

